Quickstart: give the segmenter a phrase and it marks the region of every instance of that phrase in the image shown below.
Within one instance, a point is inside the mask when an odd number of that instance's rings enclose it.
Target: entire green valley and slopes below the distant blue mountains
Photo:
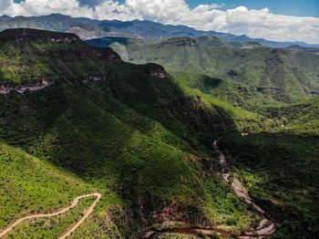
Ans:
[[[0,237],[315,238],[318,63],[217,36],[6,29]]]

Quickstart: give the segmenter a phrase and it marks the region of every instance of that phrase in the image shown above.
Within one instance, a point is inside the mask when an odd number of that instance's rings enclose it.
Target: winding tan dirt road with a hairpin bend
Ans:
[[[98,201],[100,200],[100,198],[102,197],[101,193],[90,193],[87,195],[82,195],[77,197],[72,203],[71,205],[69,205],[68,207],[65,207],[63,209],[61,209],[60,211],[58,211],[57,213],[47,213],[47,214],[34,214],[34,215],[29,215],[23,218],[18,219],[17,221],[15,221],[15,223],[11,224],[10,226],[8,226],[7,228],[5,228],[4,231],[2,231],[0,233],[0,237],[5,236],[6,234],[9,234],[10,232],[12,232],[15,227],[17,225],[19,225],[20,223],[24,223],[26,221],[32,220],[32,219],[38,219],[38,218],[48,218],[48,217],[54,217],[54,216],[58,216],[64,213],[67,213],[69,210],[71,210],[72,208],[76,207],[78,202],[83,199],[83,198],[87,198],[87,197],[97,197],[97,199],[94,201],[94,203],[92,203],[90,205],[90,207],[86,210],[86,212],[84,213],[83,217],[74,225],[72,225],[71,228],[67,229],[67,232],[65,234],[63,234],[62,236],[59,237],[59,239],[65,239],[67,238],[67,236],[69,236],[70,234],[72,234],[77,227],[79,227],[82,223],[84,223],[84,221],[86,221],[87,217],[93,213],[93,210],[95,208],[95,206],[97,205]]]

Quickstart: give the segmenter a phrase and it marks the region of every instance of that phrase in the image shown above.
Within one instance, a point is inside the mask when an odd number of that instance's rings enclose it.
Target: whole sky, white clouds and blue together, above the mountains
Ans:
[[[0,16],[52,13],[319,44],[319,0],[0,0]]]

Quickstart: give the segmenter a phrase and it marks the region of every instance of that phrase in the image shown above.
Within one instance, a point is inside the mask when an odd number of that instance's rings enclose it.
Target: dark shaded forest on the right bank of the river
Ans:
[[[284,130],[224,142],[252,197],[280,223],[273,238],[318,233],[318,142],[318,136]]]

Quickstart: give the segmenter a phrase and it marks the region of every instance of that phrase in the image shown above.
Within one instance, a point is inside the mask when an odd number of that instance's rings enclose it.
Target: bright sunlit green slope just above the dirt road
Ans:
[[[84,182],[66,171],[5,142],[0,147],[0,228],[22,215],[57,209],[89,190]]]

